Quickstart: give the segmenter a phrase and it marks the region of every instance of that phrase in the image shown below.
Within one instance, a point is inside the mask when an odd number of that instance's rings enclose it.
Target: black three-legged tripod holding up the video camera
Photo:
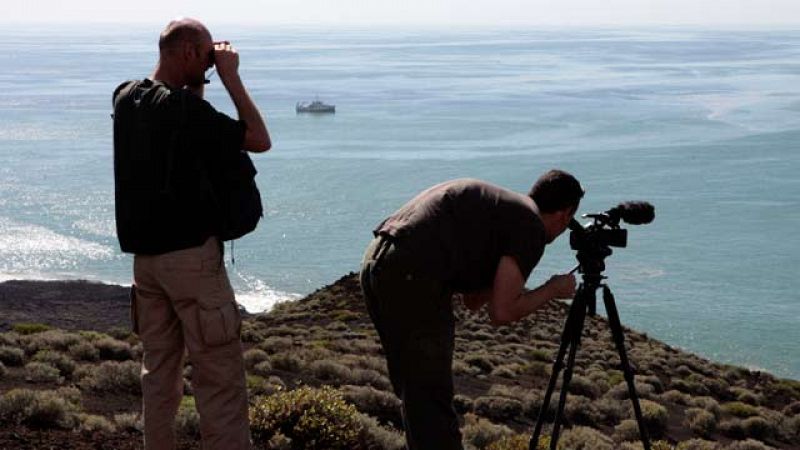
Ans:
[[[539,410],[539,417],[536,420],[536,428],[534,429],[533,436],[528,445],[529,450],[536,450],[539,445],[539,435],[542,431],[545,416],[547,415],[548,406],[550,405],[550,398],[553,395],[553,389],[556,387],[559,373],[564,369],[564,381],[561,385],[561,393],[558,399],[558,410],[553,423],[553,431],[550,438],[550,450],[556,450],[558,444],[559,431],[561,429],[561,417],[564,413],[564,405],[567,402],[567,391],[569,383],[572,380],[572,371],[575,367],[575,353],[578,350],[581,342],[581,333],[583,332],[583,325],[588,312],[589,316],[594,316],[596,312],[596,291],[600,287],[603,288],[603,303],[606,307],[608,314],[608,323],[611,327],[611,334],[616,344],[617,352],[619,353],[622,371],[625,375],[625,381],[628,383],[628,393],[633,403],[633,411],[636,415],[636,423],[639,425],[639,435],[644,445],[644,450],[650,450],[650,440],[647,436],[642,420],[642,410],[639,405],[639,397],[636,394],[636,387],[633,383],[633,371],[631,370],[628,362],[628,355],[625,351],[625,336],[622,333],[622,325],[619,321],[619,314],[617,313],[617,306],[614,303],[614,295],[611,289],[602,281],[606,278],[602,275],[605,270],[605,257],[611,255],[611,249],[608,246],[595,247],[592,249],[578,251],[578,268],[582,274],[582,281],[575,292],[575,298],[570,306],[567,320],[564,323],[564,331],[561,334],[561,345],[558,349],[558,355],[553,363],[553,372],[550,376],[550,383],[547,385],[547,391],[544,395],[541,409]],[[564,367],[564,355],[569,347],[569,357],[567,359],[566,368]]]

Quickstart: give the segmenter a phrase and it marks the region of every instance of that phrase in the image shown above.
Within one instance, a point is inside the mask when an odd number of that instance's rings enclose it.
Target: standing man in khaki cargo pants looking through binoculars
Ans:
[[[161,33],[153,74],[114,92],[117,235],[134,254],[131,312],[144,346],[146,450],[175,448],[183,355],[203,449],[250,448],[241,317],[222,261],[212,173],[233,152],[264,152],[264,120],[239,78],[239,56],[194,19]],[[203,100],[216,65],[239,120]]]

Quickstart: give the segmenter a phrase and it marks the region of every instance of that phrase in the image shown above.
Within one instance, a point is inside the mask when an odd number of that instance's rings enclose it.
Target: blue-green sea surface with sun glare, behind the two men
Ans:
[[[111,92],[151,73],[160,29],[0,28],[0,280],[130,283]],[[655,205],[606,260],[625,325],[800,379],[800,32],[212,31],[274,140],[254,158],[266,217],[235,265],[227,249],[249,310],[358,270],[372,227],[434,183],[526,192],[559,167],[586,188],[581,213]],[[336,114],[295,114],[315,97]],[[574,264],[562,237],[529,285]]]

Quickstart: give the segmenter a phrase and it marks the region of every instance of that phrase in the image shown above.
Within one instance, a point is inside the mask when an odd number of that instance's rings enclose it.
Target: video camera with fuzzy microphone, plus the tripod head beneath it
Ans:
[[[594,291],[606,278],[603,275],[606,269],[605,259],[614,253],[611,247],[624,248],[628,244],[628,230],[619,226],[620,221],[632,225],[650,223],[655,218],[655,209],[647,202],[625,202],[608,211],[584,214],[582,217],[590,218],[592,222],[581,225],[572,219],[569,223],[569,244],[573,250],[578,251],[575,257],[583,277],[580,289],[589,294],[585,297],[586,306],[589,315],[594,316]]]

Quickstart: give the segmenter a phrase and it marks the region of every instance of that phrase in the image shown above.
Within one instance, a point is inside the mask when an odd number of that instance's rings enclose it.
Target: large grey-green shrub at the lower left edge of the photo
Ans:
[[[60,391],[12,389],[0,397],[0,422],[34,428],[74,428],[78,405]]]

